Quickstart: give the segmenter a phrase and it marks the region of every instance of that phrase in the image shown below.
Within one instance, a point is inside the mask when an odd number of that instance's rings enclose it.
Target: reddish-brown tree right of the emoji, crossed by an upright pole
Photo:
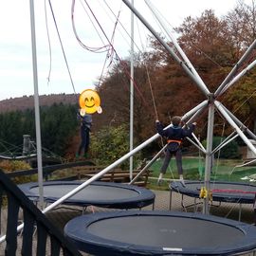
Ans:
[[[155,110],[151,82],[149,78],[155,76],[154,60],[151,53],[135,56],[134,72],[134,134],[141,142],[155,134]],[[130,62],[121,60],[109,70],[103,79],[99,93],[102,99],[104,125],[119,126],[130,121]],[[145,129],[145,127],[149,127]]]

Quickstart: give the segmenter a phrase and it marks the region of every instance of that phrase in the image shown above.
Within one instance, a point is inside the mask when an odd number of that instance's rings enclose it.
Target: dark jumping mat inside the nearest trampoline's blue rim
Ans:
[[[229,225],[176,216],[108,218],[90,224],[87,232],[127,244],[180,248],[229,247],[245,237],[242,230]]]

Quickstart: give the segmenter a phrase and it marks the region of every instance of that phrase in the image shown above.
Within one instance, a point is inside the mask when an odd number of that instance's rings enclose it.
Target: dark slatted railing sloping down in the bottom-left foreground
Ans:
[[[6,256],[82,255],[61,230],[46,218],[19,188],[0,170],[0,212],[7,210]],[[17,231],[19,212],[23,213],[24,229]],[[0,214],[1,218],[1,214]],[[36,230],[36,232],[35,232]],[[19,248],[18,248],[19,245]],[[19,251],[19,252],[18,252]]]

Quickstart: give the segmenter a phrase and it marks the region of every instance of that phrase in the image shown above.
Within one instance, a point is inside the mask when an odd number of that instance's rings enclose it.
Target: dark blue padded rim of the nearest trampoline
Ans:
[[[154,245],[140,245],[129,242],[115,241],[114,239],[107,239],[90,232],[90,225],[97,224],[98,221],[105,221],[106,219],[113,219],[125,216],[166,216],[174,218],[188,218],[190,220],[202,220],[207,222],[216,223],[217,225],[225,225],[234,229],[240,230],[245,234],[243,239],[239,239],[237,243],[227,247],[160,247]],[[112,221],[112,220],[111,220]],[[168,223],[168,222],[167,222]],[[81,229],[82,227],[82,229]],[[161,226],[160,226],[161,228]],[[138,229],[142,229],[138,227]],[[166,228],[168,229],[168,227]],[[125,227],[123,227],[125,231]],[[143,229],[142,229],[143,230]],[[180,230],[177,230],[177,233]],[[186,231],[186,229],[183,229]],[[135,230],[136,232],[136,230]],[[254,226],[241,223],[238,221],[225,219],[221,217],[205,215],[193,212],[175,212],[164,210],[125,210],[125,211],[111,211],[111,212],[98,212],[95,214],[88,214],[76,217],[70,220],[64,227],[64,235],[68,237],[80,250],[93,254],[106,256],[131,256],[131,255],[238,255],[255,251],[256,249],[256,228]],[[146,235],[146,234],[145,234]],[[166,234],[168,235],[168,234]],[[180,235],[180,234],[179,234]],[[247,236],[247,237],[246,237]],[[184,244],[186,242],[184,241]]]

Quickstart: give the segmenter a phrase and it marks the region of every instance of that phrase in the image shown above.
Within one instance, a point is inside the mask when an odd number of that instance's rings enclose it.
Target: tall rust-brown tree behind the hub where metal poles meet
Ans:
[[[206,10],[198,18],[186,18],[176,28],[180,34],[179,45],[211,92],[225,78],[227,66],[233,63],[225,27],[226,23],[212,10]],[[172,116],[185,114],[206,97],[163,46],[154,39],[152,46],[155,54],[162,56],[162,66],[155,74],[157,84],[154,86],[158,88],[157,106],[162,120],[168,122]],[[205,123],[206,119],[202,122]]]

